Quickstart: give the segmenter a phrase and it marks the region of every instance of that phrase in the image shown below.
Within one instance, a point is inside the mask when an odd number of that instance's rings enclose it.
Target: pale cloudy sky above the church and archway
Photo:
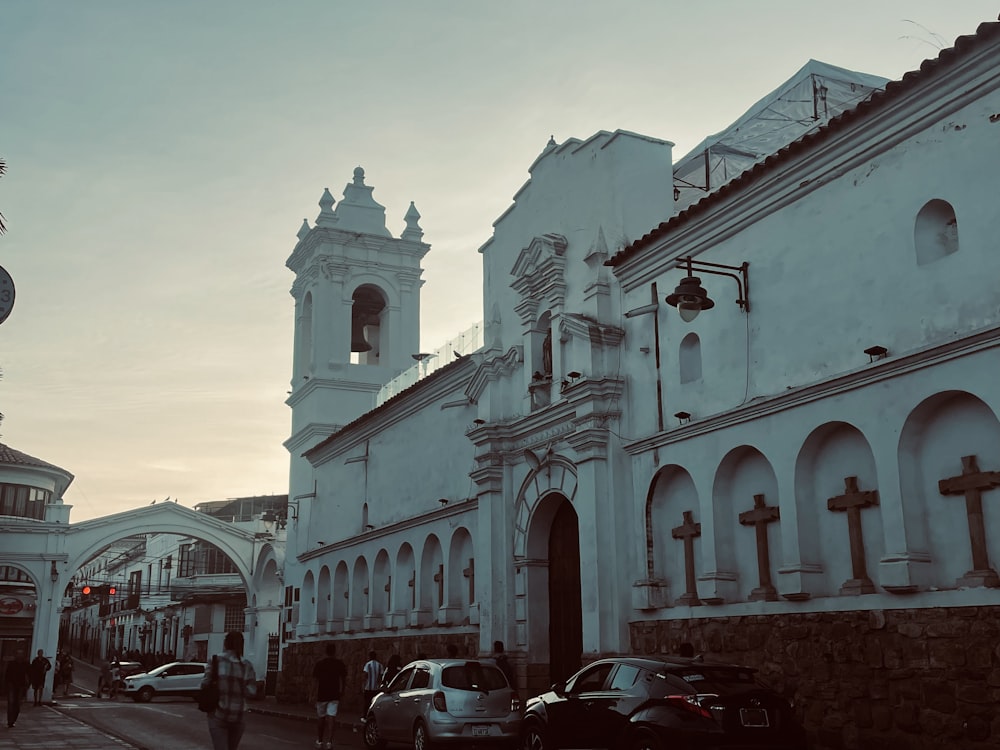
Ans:
[[[810,58],[898,79],[979,0],[0,0],[0,442],[83,521],[288,491],[302,219],[354,167],[422,215],[421,349],[550,136],[679,159]],[[664,218],[667,218],[666,216]]]

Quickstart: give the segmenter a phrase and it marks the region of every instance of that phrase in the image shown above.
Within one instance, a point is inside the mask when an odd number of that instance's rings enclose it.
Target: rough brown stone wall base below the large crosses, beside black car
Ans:
[[[814,750],[1000,747],[1000,607],[657,620],[632,650],[759,669],[792,700]]]

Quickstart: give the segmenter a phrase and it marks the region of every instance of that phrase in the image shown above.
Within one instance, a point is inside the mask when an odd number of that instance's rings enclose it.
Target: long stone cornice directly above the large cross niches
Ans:
[[[898,359],[879,360],[863,369],[837,377],[784,391],[771,397],[761,397],[728,411],[720,412],[671,430],[651,435],[641,440],[627,443],[625,450],[631,455],[639,455],[654,448],[662,448],[673,443],[690,440],[699,435],[733,427],[755,419],[778,414],[831,396],[849,393],[877,383],[908,375],[928,367],[934,367],[949,360],[958,359],[979,351],[1000,346],[1000,326],[991,326],[963,339],[927,347]]]

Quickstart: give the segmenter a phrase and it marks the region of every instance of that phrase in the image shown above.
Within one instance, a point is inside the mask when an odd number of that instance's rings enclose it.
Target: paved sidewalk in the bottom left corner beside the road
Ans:
[[[7,705],[3,704],[6,724]],[[52,706],[21,705],[21,715],[12,728],[0,727],[0,750],[136,750],[135,745],[105,734],[89,724],[67,716]]]

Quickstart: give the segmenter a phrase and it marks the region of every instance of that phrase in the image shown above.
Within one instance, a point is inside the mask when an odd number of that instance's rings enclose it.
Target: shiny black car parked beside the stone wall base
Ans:
[[[801,750],[791,705],[755,670],[699,659],[617,657],[528,700],[522,750]]]

